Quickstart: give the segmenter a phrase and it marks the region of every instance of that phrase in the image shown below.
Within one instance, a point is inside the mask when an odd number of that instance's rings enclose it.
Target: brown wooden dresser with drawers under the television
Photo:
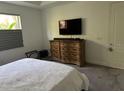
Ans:
[[[55,39],[50,41],[51,56],[62,63],[83,66],[85,63],[85,40]]]

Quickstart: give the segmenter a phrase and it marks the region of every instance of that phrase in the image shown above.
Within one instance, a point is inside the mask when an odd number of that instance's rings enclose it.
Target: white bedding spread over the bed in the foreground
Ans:
[[[51,61],[25,58],[0,66],[0,90],[88,90],[89,81],[75,68]]]

